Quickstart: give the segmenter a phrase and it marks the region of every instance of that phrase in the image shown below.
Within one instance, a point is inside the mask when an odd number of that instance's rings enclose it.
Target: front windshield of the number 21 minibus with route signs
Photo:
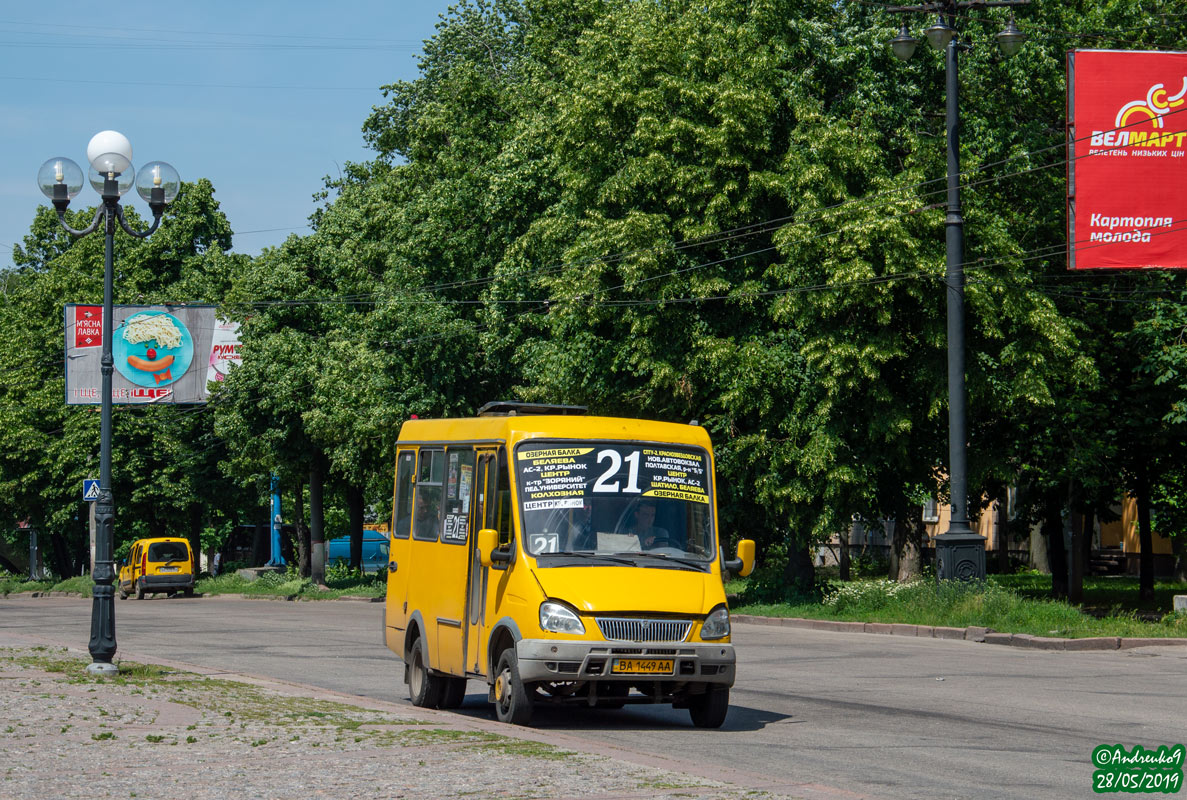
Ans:
[[[647,442],[533,439],[515,450],[534,557],[628,555],[707,566],[717,555],[709,455]]]

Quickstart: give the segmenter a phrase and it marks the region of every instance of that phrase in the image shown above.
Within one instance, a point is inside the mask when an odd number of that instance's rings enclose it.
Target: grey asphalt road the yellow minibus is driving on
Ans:
[[[120,658],[407,703],[381,605],[118,602]],[[5,634],[85,648],[90,601],[0,599]],[[1187,647],[1061,653],[736,624],[725,726],[662,706],[539,709],[535,737],[808,798],[1086,798],[1098,744],[1187,739]],[[490,716],[471,682],[456,712]],[[497,723],[491,723],[497,725]],[[506,730],[495,728],[495,730]],[[510,732],[510,731],[508,731]]]

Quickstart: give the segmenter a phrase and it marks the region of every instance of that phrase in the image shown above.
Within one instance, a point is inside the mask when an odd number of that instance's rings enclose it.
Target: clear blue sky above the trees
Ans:
[[[453,1],[5,4],[0,269],[49,205],[42,164],[66,157],[85,173],[87,144],[106,129],[128,138],[135,167],[209,178],[234,252],[307,234],[323,177],[373,157],[361,131],[385,104],[380,87],[417,76]],[[97,203],[87,184],[71,209]],[[134,190],[123,203],[151,217]]]

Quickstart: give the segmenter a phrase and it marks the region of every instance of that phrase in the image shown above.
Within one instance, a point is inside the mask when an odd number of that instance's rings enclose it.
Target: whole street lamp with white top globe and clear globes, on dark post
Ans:
[[[90,185],[102,197],[102,204],[95,210],[95,218],[83,230],[75,230],[66,222],[66,208],[70,201],[82,191],[82,170],[69,158],[51,158],[37,174],[37,183],[58,212],[58,221],[74,236],[85,236],[103,226],[106,237],[103,248],[103,317],[102,317],[102,356],[100,360],[102,374],[102,413],[100,418],[99,451],[99,501],[95,506],[95,564],[91,578],[95,588],[91,591],[90,642],[88,649],[93,662],[87,671],[100,674],[112,674],[119,668],[112,664],[115,656],[115,580],[114,520],[115,501],[112,497],[112,253],[115,239],[115,223],[138,239],[145,239],[157,230],[165,207],[177,197],[180,178],[169,164],[151,161],[140,167],[137,176],[132,169],[132,144],[122,133],[102,131],[96,133],[87,145],[87,160],[90,161]],[[135,230],[123,218],[120,197],[132,188],[135,179],[137,192],[144,197],[152,209],[153,223],[148,230]]]

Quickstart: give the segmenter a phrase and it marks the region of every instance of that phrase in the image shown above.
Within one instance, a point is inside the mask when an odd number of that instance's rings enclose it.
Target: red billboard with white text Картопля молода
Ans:
[[[1067,264],[1187,267],[1187,52],[1067,53]]]

